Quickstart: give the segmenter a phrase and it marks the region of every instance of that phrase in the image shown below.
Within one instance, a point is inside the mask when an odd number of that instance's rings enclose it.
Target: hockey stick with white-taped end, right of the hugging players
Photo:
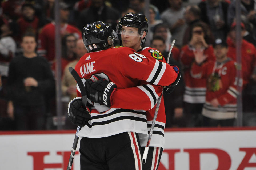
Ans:
[[[171,43],[171,48],[169,50],[168,58],[167,58],[167,64],[169,63],[169,59],[170,59],[170,55],[171,55],[171,50],[173,49],[175,41],[176,40],[173,40],[173,42]],[[162,90],[162,93],[161,93],[160,97],[157,100],[157,107],[155,108],[154,118],[153,118],[153,121],[152,121],[152,124],[151,124],[151,128],[150,128],[150,131],[149,131],[149,138],[147,139],[147,145],[145,147],[145,150],[144,150],[144,153],[143,153],[143,156],[142,156],[142,163],[143,164],[146,163],[147,153],[149,152],[149,144],[150,144],[151,136],[153,134],[153,129],[154,129],[154,126],[155,126],[155,121],[157,119],[158,109],[159,109],[159,106],[160,106],[160,103],[161,103],[162,96],[163,96],[163,90]]]

